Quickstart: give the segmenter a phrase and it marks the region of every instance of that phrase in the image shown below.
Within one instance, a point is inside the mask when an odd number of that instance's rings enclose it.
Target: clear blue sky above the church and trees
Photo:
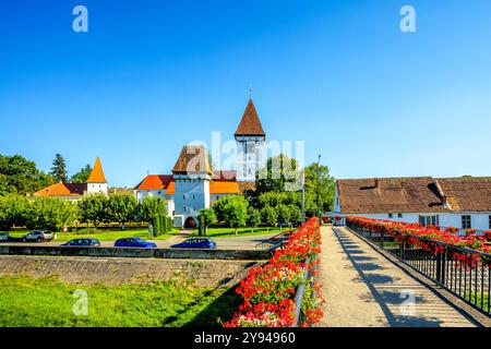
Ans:
[[[0,153],[100,156],[110,185],[231,137],[250,85],[268,140],[338,178],[491,174],[489,0],[5,1],[0,67]]]

